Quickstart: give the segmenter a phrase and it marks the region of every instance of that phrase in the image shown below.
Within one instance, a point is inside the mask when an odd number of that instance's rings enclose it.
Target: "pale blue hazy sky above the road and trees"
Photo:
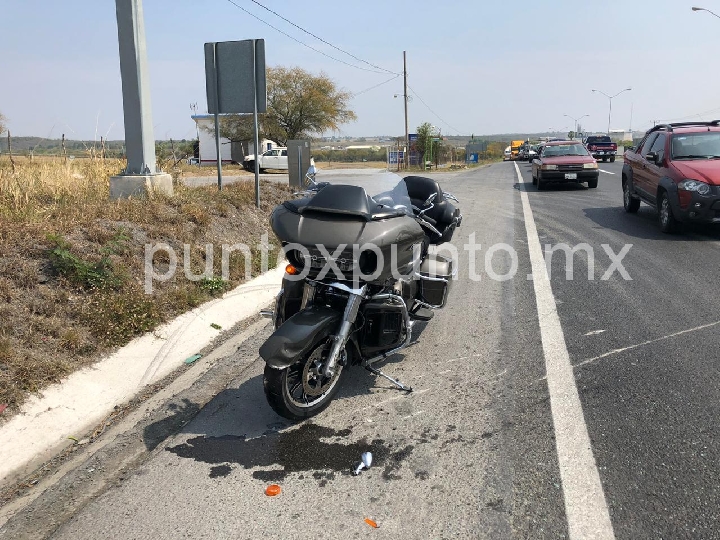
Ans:
[[[407,51],[410,132],[423,122],[443,135],[565,132],[584,115],[585,131],[603,132],[610,100],[592,90],[628,87],[612,100],[612,129],[720,118],[720,18],[690,9],[720,14],[720,0],[259,1],[391,72]],[[325,135],[404,133],[402,77],[330,59],[238,6],[369,68],[252,0],[144,0],[156,139],[195,136],[190,105],[207,110],[203,44],[249,38],[265,39],[268,65],[324,72],[357,94],[357,121]],[[0,0],[0,14],[0,113],[13,135],[123,139],[115,2]]]

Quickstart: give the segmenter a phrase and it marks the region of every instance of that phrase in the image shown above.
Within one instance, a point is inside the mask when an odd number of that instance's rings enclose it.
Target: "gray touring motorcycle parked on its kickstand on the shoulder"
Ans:
[[[345,369],[407,347],[415,321],[445,305],[453,261],[430,247],[448,242],[462,216],[430,178],[399,179],[374,197],[362,187],[316,183],[270,218],[290,263],[277,295],[275,332],[260,348],[264,387],[279,415],[302,420],[325,409]]]

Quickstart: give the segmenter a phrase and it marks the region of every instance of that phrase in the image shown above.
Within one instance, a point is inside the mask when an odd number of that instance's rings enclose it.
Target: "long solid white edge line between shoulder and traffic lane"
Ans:
[[[523,183],[517,164],[515,171],[518,181]],[[550,410],[555,429],[555,448],[565,498],[568,533],[571,540],[614,539],[610,511],[590,444],[590,436],[570,364],[570,354],[560,325],[527,192],[521,191],[520,199],[530,249],[533,287],[545,355]]]

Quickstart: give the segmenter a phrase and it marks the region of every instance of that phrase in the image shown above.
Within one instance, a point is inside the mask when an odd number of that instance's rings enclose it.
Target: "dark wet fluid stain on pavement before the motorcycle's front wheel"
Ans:
[[[254,470],[253,478],[280,482],[291,473],[312,474],[327,484],[335,473],[348,476],[359,463],[363,452],[373,453],[373,468],[384,466],[385,480],[399,480],[402,462],[413,451],[408,445],[395,450],[382,439],[350,441],[352,429],[334,430],[316,424],[303,424],[298,429],[273,432],[246,439],[244,436],[198,436],[166,448],[178,457],[213,465],[211,476],[230,473],[231,465]],[[227,471],[227,472],[225,472]],[[222,474],[225,473],[225,474]]]

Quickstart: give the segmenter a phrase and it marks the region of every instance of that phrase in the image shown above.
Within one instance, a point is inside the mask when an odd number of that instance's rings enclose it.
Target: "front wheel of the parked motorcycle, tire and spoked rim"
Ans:
[[[331,339],[317,343],[299,362],[285,368],[265,366],[263,386],[270,407],[289,420],[304,420],[322,412],[340,389],[347,355],[343,351],[332,377],[321,373],[330,352]]]

